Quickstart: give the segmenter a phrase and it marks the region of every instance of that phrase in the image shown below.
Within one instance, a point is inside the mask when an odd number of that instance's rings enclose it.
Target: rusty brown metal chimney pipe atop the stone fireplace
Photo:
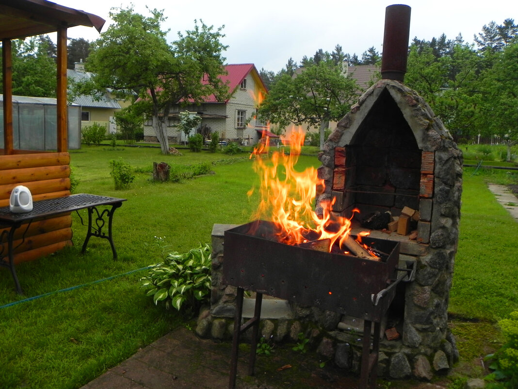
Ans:
[[[381,78],[403,82],[407,72],[410,7],[394,4],[385,9]]]

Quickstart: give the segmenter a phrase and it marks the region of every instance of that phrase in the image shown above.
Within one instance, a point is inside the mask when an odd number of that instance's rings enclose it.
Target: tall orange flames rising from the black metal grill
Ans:
[[[351,220],[331,212],[335,199],[320,204],[323,215],[319,217],[313,211],[313,204],[316,190],[324,187],[324,180],[318,177],[313,167],[303,172],[295,169],[304,144],[304,131],[299,128],[289,136],[281,137],[281,140],[283,145],[289,141],[289,154],[285,154],[282,147],[274,151],[270,159],[262,158],[261,155],[269,147],[269,139],[266,138],[250,156],[254,158],[255,172],[261,176],[261,200],[253,218],[276,223],[281,230],[278,240],[282,243],[304,243],[308,241],[308,235],[316,234],[317,238],[312,240],[329,239],[329,251],[337,240],[340,247],[344,247],[342,243],[351,232]],[[249,191],[249,196],[252,192],[253,189]],[[353,214],[355,212],[358,210],[354,210]]]

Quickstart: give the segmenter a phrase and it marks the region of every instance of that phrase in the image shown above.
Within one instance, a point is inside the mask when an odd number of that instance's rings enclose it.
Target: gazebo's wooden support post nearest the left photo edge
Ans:
[[[2,41],[2,92],[4,94],[4,154],[12,154],[12,46],[10,39]]]

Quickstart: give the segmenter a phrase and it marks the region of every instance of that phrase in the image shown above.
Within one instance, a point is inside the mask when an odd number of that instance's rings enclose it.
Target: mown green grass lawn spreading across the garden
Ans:
[[[159,149],[147,147],[83,146],[71,151],[71,165],[80,181],[76,192],[127,199],[113,221],[119,259],[111,258],[108,242],[95,238],[82,255],[86,229],[74,214],[73,247],[17,267],[25,297],[49,295],[0,308],[0,387],[80,387],[185,324],[178,314],[155,307],[139,287],[145,271],[139,269],[160,260],[160,250],[149,243],[155,235],[165,237],[171,250],[185,252],[198,242],[210,242],[215,223],[246,223],[258,201],[246,193],[258,178],[246,154],[181,151],[184,155],[178,157],[162,156]],[[109,160],[119,157],[139,171],[128,190],[114,190],[109,176]],[[215,174],[156,184],[148,173],[153,161],[209,162]],[[310,165],[320,165],[314,155],[301,156],[297,166]],[[451,328],[465,363],[485,355],[487,344],[500,341],[494,324],[518,308],[516,223],[485,185],[488,179],[509,182],[516,176],[501,170],[472,174],[474,170],[467,168],[464,175],[450,297]],[[22,300],[7,270],[3,272],[0,306]],[[73,289],[55,293],[64,288]]]

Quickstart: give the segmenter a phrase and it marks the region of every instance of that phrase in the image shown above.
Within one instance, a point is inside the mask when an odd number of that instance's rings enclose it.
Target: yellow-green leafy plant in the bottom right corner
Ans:
[[[493,372],[485,379],[490,381],[489,389],[514,389],[518,387],[518,311],[498,324],[506,342],[496,353],[486,356],[492,362],[489,367]]]

